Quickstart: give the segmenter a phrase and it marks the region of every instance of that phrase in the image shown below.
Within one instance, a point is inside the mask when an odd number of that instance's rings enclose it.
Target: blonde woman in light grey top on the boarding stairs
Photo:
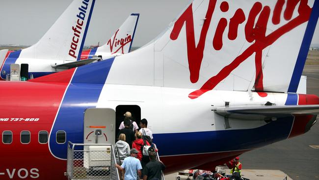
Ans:
[[[115,154],[116,154],[116,163],[122,164],[124,158],[130,156],[130,146],[125,142],[125,134],[121,133],[118,141],[115,143]]]

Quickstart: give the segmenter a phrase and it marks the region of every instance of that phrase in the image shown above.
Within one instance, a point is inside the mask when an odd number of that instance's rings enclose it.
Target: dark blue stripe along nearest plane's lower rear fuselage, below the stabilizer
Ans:
[[[256,149],[287,139],[292,122],[279,118],[253,129],[153,134],[153,138],[161,156]]]

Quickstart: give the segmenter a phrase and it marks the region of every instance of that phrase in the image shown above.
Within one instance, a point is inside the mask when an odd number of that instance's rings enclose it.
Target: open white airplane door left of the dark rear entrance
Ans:
[[[115,111],[90,108],[84,112],[84,144],[115,144]]]

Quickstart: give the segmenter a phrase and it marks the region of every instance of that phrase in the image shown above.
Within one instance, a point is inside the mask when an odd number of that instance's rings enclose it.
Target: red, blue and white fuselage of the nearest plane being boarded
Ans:
[[[13,134],[11,144],[1,144],[5,162],[0,166],[1,178],[63,178],[67,142],[83,143],[83,113],[88,108],[139,106],[168,173],[222,164],[245,151],[303,134],[316,119],[230,119],[230,127],[226,127],[224,117],[212,111],[214,107],[223,107],[225,102],[231,106],[264,105],[267,101],[276,105],[319,104],[318,97],[312,95],[267,93],[261,97],[256,92],[220,90],[193,100],[187,97],[191,89],[79,83],[73,73],[65,71],[60,82],[0,82],[7,87],[1,89],[6,95],[0,105],[0,132]],[[66,143],[55,141],[59,130],[66,132]],[[21,143],[22,131],[30,132],[28,144]],[[48,143],[39,143],[39,131],[49,132]]]

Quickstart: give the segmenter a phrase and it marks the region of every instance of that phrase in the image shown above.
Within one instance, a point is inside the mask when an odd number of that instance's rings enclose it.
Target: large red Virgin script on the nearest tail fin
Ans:
[[[292,13],[296,8],[297,4],[300,2],[298,7],[298,16],[292,19]],[[280,23],[280,15],[284,13],[284,19],[288,21],[285,25],[281,26],[277,30],[274,30],[266,36],[266,29],[268,19],[270,18],[270,7],[263,6],[262,3],[256,2],[250,9],[246,24],[245,24],[245,38],[247,42],[253,42],[242,54],[237,58],[232,60],[230,64],[222,68],[215,76],[211,77],[199,90],[191,92],[188,97],[191,99],[197,98],[203,93],[213,90],[213,88],[225,79],[234,69],[236,69],[241,62],[250,57],[255,53],[255,67],[256,67],[256,80],[255,80],[255,90],[263,91],[263,70],[262,70],[262,52],[263,50],[275,42],[279,37],[288,31],[296,28],[304,22],[307,22],[312,8],[307,4],[307,0],[287,0],[286,9],[283,7],[285,0],[277,0],[275,8],[272,13],[271,22],[274,25]],[[175,22],[174,28],[170,34],[172,40],[176,40],[185,24],[186,26],[186,44],[187,44],[187,57],[188,66],[190,72],[190,82],[196,83],[199,78],[200,66],[203,60],[203,52],[205,48],[205,41],[207,31],[210,27],[212,15],[215,9],[216,0],[210,0],[208,5],[208,10],[206,13],[206,20],[202,26],[200,33],[200,38],[197,46],[195,45],[194,37],[194,22],[193,22],[193,11],[192,4],[186,9],[186,11],[181,15],[181,17]],[[220,10],[222,12],[227,12],[229,9],[228,2],[224,1],[220,4]],[[259,17],[257,18],[257,16]],[[255,21],[257,19],[256,25],[254,27]],[[234,16],[229,21],[228,26],[228,39],[235,40],[238,35],[238,27],[246,20],[246,16],[242,9],[237,9]],[[221,50],[223,46],[223,33],[227,28],[227,19],[221,18],[218,22],[214,37],[213,37],[213,48],[215,50]],[[261,96],[266,96],[266,93],[260,93]]]

